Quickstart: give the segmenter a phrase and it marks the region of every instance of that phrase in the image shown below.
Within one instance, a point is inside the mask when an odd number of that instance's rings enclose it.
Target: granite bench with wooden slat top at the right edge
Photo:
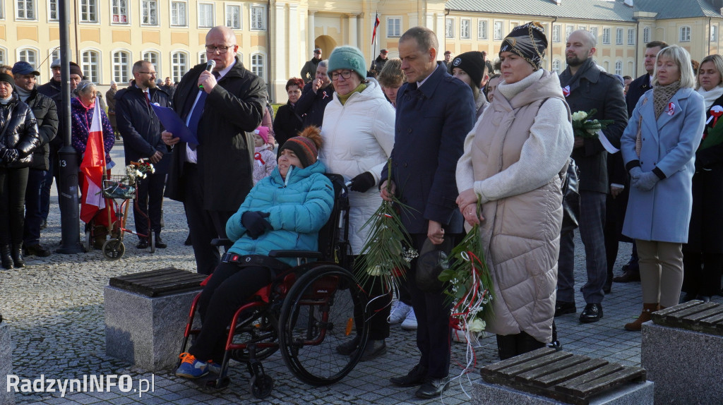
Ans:
[[[655,382],[656,402],[721,404],[723,305],[693,300],[643,323],[641,364]]]

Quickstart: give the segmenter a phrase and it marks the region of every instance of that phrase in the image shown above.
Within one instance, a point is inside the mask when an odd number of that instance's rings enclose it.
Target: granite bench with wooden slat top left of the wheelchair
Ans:
[[[145,370],[176,364],[203,274],[157,269],[113,277],[104,293],[106,353]]]

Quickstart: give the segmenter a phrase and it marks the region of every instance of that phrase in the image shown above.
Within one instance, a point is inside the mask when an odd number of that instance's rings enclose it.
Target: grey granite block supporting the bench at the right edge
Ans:
[[[723,336],[643,323],[641,363],[659,404],[720,404]]]

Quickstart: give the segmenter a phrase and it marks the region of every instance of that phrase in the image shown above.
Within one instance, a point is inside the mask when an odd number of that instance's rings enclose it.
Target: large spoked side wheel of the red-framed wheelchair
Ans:
[[[279,344],[283,360],[299,380],[326,386],[354,369],[363,351],[350,357],[338,354],[336,347],[356,337],[355,313],[363,315],[359,347],[366,346],[367,300],[354,276],[338,266],[319,266],[296,280],[281,307]]]

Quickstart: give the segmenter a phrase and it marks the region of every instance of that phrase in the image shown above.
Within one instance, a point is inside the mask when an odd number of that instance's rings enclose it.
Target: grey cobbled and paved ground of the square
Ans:
[[[114,160],[122,162],[122,149],[116,146]],[[119,165],[122,167],[122,165]],[[119,170],[121,170],[119,168]],[[55,192],[55,189],[54,189]],[[163,240],[168,248],[155,253],[135,248],[135,238],[127,235],[126,253],[119,261],[108,261],[100,251],[61,255],[48,258],[27,258],[24,269],[0,270],[0,313],[11,328],[13,373],[19,378],[82,378],[82,375],[131,375],[134,381],[153,380],[153,392],[16,393],[17,404],[464,404],[469,402],[471,381],[479,378],[479,367],[497,360],[494,336],[481,339],[474,349],[472,373],[453,381],[441,401],[414,398],[414,388],[390,386],[388,379],[405,374],[416,364],[417,349],[414,332],[391,328],[388,353],[371,362],[359,363],[341,382],[332,386],[312,387],[291,375],[276,353],[265,360],[265,370],[275,380],[273,393],[265,401],[249,393],[246,367],[232,362],[231,384],[213,391],[202,383],[176,378],[172,370],[147,373],[127,362],[106,355],[103,321],[103,287],[113,276],[166,266],[194,270],[192,249],[184,246],[187,225],[182,204],[164,202]],[[79,227],[79,231],[82,230]],[[48,228],[41,243],[59,244],[60,216],[57,202],[51,204]],[[627,261],[630,245],[621,244],[615,269]],[[616,274],[617,274],[616,270]],[[576,240],[576,279],[585,278],[582,244]],[[578,287],[581,284],[578,285]],[[578,292],[578,314],[584,301]],[[716,297],[716,302],[723,302]],[[588,354],[623,365],[640,365],[639,333],[623,330],[642,307],[640,283],[614,284],[612,293],[603,302],[602,321],[581,324],[578,314],[557,318],[560,340],[565,350]],[[466,360],[466,347],[453,344],[452,375],[461,373]],[[5,378],[5,376],[0,376]],[[137,383],[134,383],[137,387]]]

